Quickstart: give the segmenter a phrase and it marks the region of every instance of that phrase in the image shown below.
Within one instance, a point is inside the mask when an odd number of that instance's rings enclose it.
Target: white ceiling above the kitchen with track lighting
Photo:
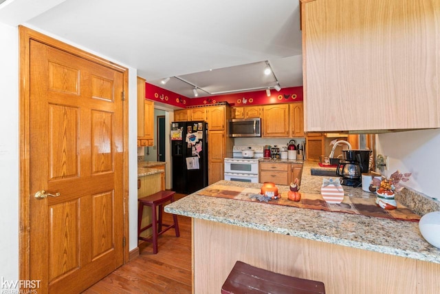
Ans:
[[[299,0],[6,0],[0,21],[135,67],[186,97],[192,85],[160,81],[179,76],[210,93],[273,87],[260,70],[268,61],[281,87],[303,84]]]

